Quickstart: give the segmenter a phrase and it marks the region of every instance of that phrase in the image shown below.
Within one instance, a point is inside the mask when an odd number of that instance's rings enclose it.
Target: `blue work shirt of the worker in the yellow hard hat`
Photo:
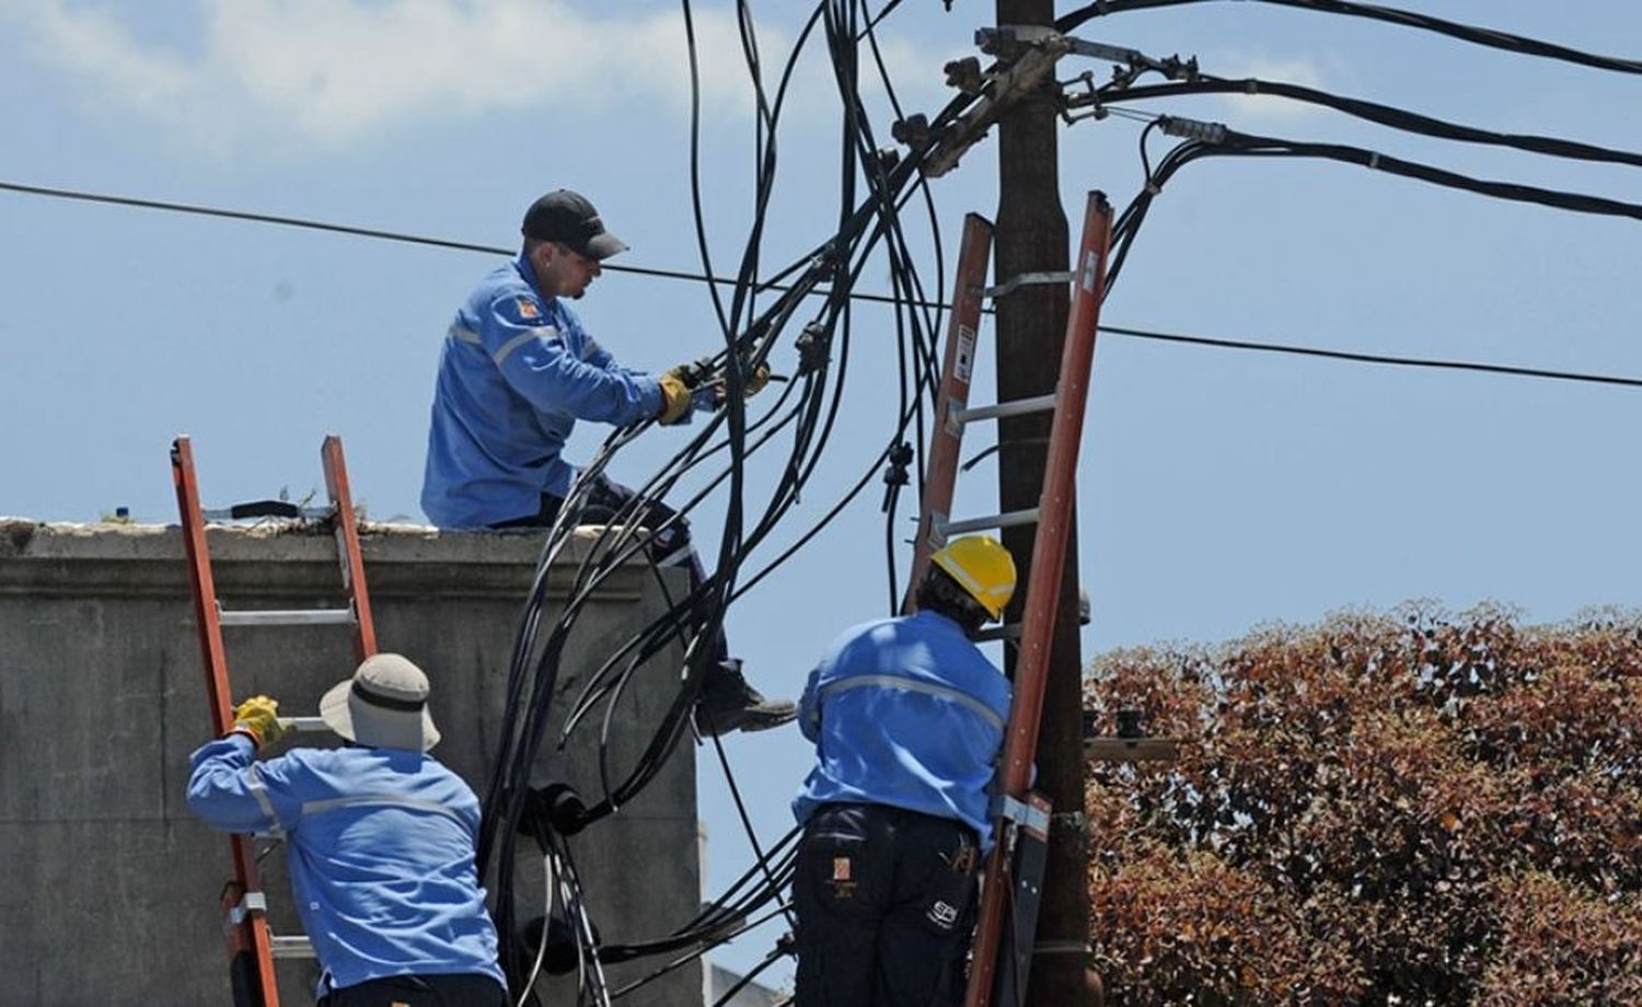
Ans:
[[[810,674],[798,726],[816,743],[793,815],[874,803],[956,818],[992,846],[990,785],[1010,683],[952,619],[921,611],[847,631]]]

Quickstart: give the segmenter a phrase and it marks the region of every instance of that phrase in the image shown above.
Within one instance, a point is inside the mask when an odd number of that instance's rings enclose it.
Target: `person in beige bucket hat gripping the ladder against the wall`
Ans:
[[[279,703],[253,697],[225,738],[190,756],[195,815],[289,843],[320,1007],[507,1002],[475,866],[479,800],[427,754],[438,743],[427,697],[419,667],[376,654],[320,700],[346,747],[256,761],[286,728]]]

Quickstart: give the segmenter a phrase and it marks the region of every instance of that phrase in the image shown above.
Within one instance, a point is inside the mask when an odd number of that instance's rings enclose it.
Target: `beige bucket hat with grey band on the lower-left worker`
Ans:
[[[427,693],[422,669],[399,654],[374,654],[325,693],[319,715],[348,741],[425,752],[438,744]]]

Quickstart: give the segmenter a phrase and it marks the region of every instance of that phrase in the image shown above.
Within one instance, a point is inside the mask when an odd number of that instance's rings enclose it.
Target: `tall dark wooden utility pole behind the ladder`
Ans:
[[[998,26],[1054,25],[1053,0],[998,0]],[[1053,87],[1053,82],[1048,84]],[[1053,92],[1016,102],[998,120],[998,214],[993,283],[1069,268],[1066,212],[1061,207],[1057,110]],[[1066,338],[1067,284],[1023,284],[997,301],[998,401],[1054,391]],[[1049,414],[1003,419],[998,425],[1000,509],[1038,506],[1048,458]],[[1067,539],[1066,573],[1051,651],[1049,683],[1038,739],[1038,790],[1054,803],[1038,953],[1028,1004],[1092,1007],[1087,971],[1089,861],[1084,843],[1082,654],[1077,632],[1076,516]],[[1033,527],[1003,531],[1020,570],[1031,568]],[[1020,621],[1020,598],[1010,608]],[[1013,674],[1013,655],[1008,660]],[[1076,815],[1076,818],[1074,818]]]

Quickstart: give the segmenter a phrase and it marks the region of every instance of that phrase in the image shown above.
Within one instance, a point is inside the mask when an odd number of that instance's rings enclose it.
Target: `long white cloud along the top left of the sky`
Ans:
[[[555,103],[690,107],[683,23],[672,7],[622,15],[565,0],[195,0],[199,43],[187,54],[133,31],[130,10],[0,0],[0,16],[21,23],[31,54],[100,105],[217,149],[253,135],[340,148],[429,118]],[[698,3],[695,33],[703,115],[749,117],[732,8]],[[790,39],[760,28],[760,44],[773,89]],[[908,43],[892,44],[887,59],[920,66],[923,79],[941,66]],[[831,95],[826,61],[810,57],[788,112],[836,115]]]

